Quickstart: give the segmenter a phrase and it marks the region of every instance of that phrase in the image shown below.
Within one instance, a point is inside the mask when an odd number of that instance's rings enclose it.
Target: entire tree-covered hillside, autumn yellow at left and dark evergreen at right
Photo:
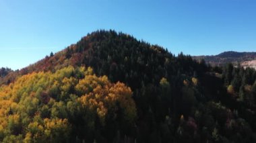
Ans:
[[[256,71],[98,30],[0,70],[0,142],[256,142]]]

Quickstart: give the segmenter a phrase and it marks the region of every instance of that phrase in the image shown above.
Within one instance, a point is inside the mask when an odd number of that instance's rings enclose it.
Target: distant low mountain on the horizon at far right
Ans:
[[[226,63],[241,64],[245,61],[255,60],[256,52],[222,52],[218,55],[212,56],[193,56],[195,60],[204,59],[207,64],[212,66],[222,66]]]

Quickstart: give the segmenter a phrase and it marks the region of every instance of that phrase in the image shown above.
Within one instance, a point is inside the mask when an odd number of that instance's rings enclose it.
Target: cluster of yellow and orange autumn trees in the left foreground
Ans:
[[[135,117],[131,89],[90,67],[31,73],[0,87],[0,142],[90,142]]]

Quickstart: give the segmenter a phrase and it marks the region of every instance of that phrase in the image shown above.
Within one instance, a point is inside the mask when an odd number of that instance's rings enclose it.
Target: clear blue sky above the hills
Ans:
[[[28,66],[99,29],[174,54],[256,51],[256,1],[0,0],[0,67]]]

